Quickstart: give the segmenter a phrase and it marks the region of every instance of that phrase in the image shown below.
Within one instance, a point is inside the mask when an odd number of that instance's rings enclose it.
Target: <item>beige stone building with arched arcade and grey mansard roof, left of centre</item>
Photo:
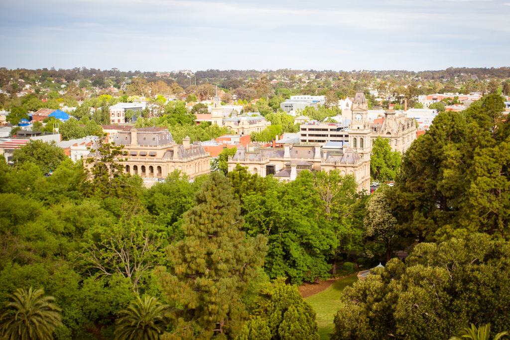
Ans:
[[[190,138],[177,144],[168,129],[161,127],[132,128],[119,131],[113,144],[122,145],[126,152],[124,170],[144,178],[165,178],[174,170],[186,173],[190,178],[211,172],[211,156],[200,142],[190,144]],[[88,157],[94,154],[89,154]]]

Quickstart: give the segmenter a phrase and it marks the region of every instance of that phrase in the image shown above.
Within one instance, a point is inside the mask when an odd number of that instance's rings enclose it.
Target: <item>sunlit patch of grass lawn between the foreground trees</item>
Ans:
[[[304,301],[307,301],[314,307],[317,313],[316,320],[319,325],[321,340],[329,339],[327,334],[333,332],[333,319],[335,314],[343,307],[343,304],[340,302],[342,291],[346,286],[351,285],[355,281],[358,281],[356,275],[339,279],[325,291],[304,299]]]

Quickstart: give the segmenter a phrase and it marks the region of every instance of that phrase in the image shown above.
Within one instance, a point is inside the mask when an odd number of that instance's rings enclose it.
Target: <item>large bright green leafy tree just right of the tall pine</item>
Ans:
[[[264,234],[269,240],[266,273],[289,277],[292,283],[329,277],[327,260],[338,240],[322,212],[313,174],[301,171],[287,184],[266,180],[265,191],[242,198],[248,234]]]

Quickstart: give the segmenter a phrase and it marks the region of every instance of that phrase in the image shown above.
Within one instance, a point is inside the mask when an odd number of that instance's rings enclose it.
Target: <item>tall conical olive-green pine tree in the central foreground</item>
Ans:
[[[161,270],[163,289],[182,308],[175,334],[234,337],[246,312],[240,295],[262,265],[266,240],[246,238],[230,181],[220,172],[195,195],[185,215],[185,239],[167,248],[173,264]]]

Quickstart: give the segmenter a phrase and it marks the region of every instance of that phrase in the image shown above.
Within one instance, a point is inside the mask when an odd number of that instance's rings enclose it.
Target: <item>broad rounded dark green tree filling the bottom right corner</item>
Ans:
[[[486,234],[421,243],[344,291],[333,339],[438,339],[510,324],[510,244]]]

